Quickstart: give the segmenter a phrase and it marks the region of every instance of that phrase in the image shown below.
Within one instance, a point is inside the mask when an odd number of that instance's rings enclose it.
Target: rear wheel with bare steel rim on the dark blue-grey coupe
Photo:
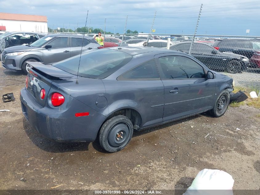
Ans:
[[[107,152],[118,152],[129,143],[133,131],[133,124],[129,118],[123,115],[114,116],[102,125],[99,143]]]

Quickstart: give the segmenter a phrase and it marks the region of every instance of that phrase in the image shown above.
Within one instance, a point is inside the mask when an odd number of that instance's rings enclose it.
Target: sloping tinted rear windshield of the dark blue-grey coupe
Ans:
[[[111,75],[119,68],[128,63],[132,56],[122,52],[110,49],[98,49],[81,55],[74,56],[70,59],[54,63],[53,66],[73,75],[103,79]]]

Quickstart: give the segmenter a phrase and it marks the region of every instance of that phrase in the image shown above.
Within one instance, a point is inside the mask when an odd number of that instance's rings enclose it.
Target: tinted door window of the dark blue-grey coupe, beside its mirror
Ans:
[[[198,63],[184,56],[164,56],[159,59],[161,79],[205,78],[205,73]]]

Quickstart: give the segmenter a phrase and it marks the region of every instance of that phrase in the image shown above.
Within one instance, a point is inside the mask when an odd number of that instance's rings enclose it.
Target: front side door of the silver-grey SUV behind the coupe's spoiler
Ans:
[[[68,37],[58,37],[47,45],[51,45],[51,48],[46,49],[44,47],[42,50],[44,64],[59,62],[70,57]]]

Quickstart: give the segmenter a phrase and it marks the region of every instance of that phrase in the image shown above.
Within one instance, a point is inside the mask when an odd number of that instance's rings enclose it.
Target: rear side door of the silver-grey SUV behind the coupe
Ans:
[[[84,39],[83,47],[82,47],[82,38],[76,38],[76,37],[70,37],[70,57],[81,54],[81,48],[82,48],[82,54],[88,51],[93,50],[93,45],[91,47],[90,42],[88,39]]]

